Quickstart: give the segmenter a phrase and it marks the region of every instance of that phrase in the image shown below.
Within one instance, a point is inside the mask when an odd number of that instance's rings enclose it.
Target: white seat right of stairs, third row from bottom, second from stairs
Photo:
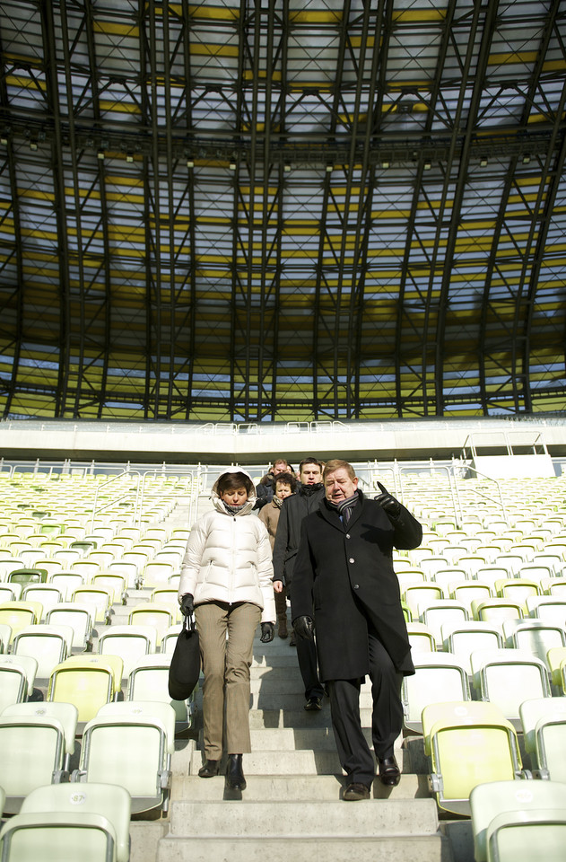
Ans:
[[[478,649],[470,662],[481,699],[500,708],[515,727],[520,727],[518,708],[523,700],[551,697],[546,665],[527,651]]]

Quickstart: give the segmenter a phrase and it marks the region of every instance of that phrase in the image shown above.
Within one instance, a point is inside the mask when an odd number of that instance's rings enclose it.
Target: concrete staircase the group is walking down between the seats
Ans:
[[[168,520],[186,526],[183,516],[178,506]],[[132,596],[132,603],[141,598]],[[256,638],[251,679],[252,753],[243,759],[247,789],[226,790],[223,775],[198,777],[204,759],[199,694],[196,727],[176,744],[169,814],[131,823],[131,862],[472,862],[469,830],[465,851],[458,853],[439,822],[420,741],[413,746],[416,756],[401,747],[402,738],[397,741],[403,764],[398,787],[383,787],[376,778],[369,801],[344,803],[328,700],[320,712],[304,711],[296,651],[288,639],[275,636],[262,644]],[[368,736],[370,705],[366,686],[361,718]]]

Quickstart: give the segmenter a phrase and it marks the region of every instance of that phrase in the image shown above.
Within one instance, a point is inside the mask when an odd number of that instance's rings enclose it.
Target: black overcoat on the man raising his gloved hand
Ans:
[[[304,519],[293,571],[292,619],[314,618],[325,682],[369,673],[369,624],[397,671],[414,673],[392,551],[418,547],[422,527],[405,506],[390,519],[358,493],[346,528],[325,500]]]

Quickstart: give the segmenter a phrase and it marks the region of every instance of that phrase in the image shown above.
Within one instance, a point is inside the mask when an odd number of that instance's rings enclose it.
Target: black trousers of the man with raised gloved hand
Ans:
[[[403,676],[396,672],[379,638],[372,632],[368,637],[373,701],[371,740],[376,757],[383,759],[393,756],[396,738],[403,728]],[[361,729],[361,680],[332,680],[328,682],[328,688],[332,727],[342,768],[348,782],[370,786],[375,777],[375,762]]]

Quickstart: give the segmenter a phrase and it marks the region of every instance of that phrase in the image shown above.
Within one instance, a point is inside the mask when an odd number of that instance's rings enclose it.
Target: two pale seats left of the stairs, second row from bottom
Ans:
[[[80,721],[73,703],[18,703],[0,714],[4,814],[20,811],[35,787],[72,781],[125,787],[132,811],[167,811],[175,710],[136,699],[103,704],[83,728],[79,768],[69,772]]]

